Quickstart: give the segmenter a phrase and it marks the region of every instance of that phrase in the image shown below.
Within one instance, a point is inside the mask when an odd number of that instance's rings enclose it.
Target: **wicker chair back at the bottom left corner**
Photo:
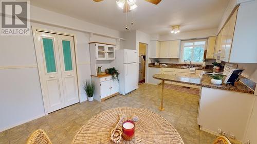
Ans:
[[[27,144],[52,144],[52,142],[44,130],[36,130],[30,135]]]

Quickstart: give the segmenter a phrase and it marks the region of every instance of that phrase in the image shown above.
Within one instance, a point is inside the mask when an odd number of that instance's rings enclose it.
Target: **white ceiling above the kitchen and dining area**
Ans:
[[[95,3],[92,0],[33,0],[34,6],[62,13],[107,28],[125,31],[126,14],[116,0]],[[181,32],[217,28],[229,0],[162,0],[158,5],[137,0],[132,30],[149,34],[168,34],[171,25]]]

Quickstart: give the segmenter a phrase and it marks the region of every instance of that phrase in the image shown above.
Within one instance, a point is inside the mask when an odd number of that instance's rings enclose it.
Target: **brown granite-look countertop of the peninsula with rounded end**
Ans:
[[[153,78],[167,81],[174,81],[176,83],[196,85],[201,87],[213,88],[213,89],[221,89],[228,91],[236,91],[242,93],[254,94],[254,91],[245,86],[241,81],[239,81],[234,86],[222,84],[222,85],[214,85],[211,83],[212,77],[210,75],[203,75],[201,78],[193,78],[193,77],[182,77],[182,76],[172,76],[170,74],[154,74]]]

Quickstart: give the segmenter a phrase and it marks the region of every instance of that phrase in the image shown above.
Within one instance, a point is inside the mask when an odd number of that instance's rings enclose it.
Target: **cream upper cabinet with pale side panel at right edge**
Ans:
[[[221,60],[228,63],[257,63],[257,1],[241,3],[222,30]]]

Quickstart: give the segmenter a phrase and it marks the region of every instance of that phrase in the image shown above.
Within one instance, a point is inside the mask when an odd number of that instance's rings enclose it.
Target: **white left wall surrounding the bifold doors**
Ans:
[[[86,100],[82,84],[90,79],[90,36],[84,31],[110,37],[120,37],[120,32],[34,6],[31,6],[31,19],[33,27],[76,35],[80,101]],[[0,132],[45,114],[30,32],[29,36],[0,36]],[[90,37],[90,41],[117,44],[114,38],[97,35]]]

